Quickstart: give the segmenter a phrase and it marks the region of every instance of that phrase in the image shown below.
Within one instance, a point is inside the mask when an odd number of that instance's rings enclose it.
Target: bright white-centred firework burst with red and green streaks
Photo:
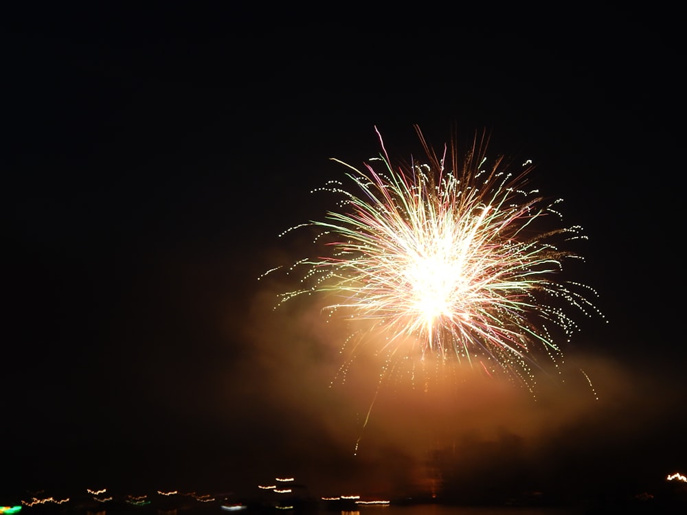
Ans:
[[[528,380],[538,353],[559,356],[556,340],[570,339],[579,314],[600,314],[594,290],[556,280],[563,260],[581,259],[566,248],[583,229],[561,227],[561,199],[526,188],[529,162],[515,172],[488,163],[486,135],[463,157],[455,141],[438,157],[416,130],[423,161],[392,164],[379,132],[380,155],[363,170],[334,159],[347,182],[315,191],[339,196],[337,209],[282,233],[315,227],[320,254],[289,268],[302,287],[278,304],[322,293],[327,311],[370,321],[389,359],[433,356]]]

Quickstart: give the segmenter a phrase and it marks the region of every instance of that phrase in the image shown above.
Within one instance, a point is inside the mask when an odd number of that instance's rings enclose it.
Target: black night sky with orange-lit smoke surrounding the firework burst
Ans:
[[[675,13],[62,9],[0,32],[0,489],[286,474],[399,494],[427,491],[431,456],[447,490],[687,470]],[[583,323],[570,380],[537,402],[477,378],[398,385],[361,433],[373,365],[330,388],[343,328],[273,312],[257,277],[295,251],[278,233],[330,207],[309,194],[340,174],[328,158],[375,156],[376,126],[406,159],[413,124],[435,146],[486,128],[534,160],[589,235],[579,273],[609,323]]]

